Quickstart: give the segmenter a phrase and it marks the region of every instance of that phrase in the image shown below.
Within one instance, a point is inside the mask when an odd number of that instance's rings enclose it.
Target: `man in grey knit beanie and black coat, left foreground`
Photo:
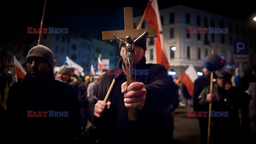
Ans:
[[[75,141],[81,130],[77,92],[55,80],[52,51],[37,45],[28,52],[27,74],[9,89],[7,140]]]

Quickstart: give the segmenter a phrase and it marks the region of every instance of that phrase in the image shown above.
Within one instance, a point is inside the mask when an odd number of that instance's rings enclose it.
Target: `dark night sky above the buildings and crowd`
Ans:
[[[124,29],[123,7],[133,6],[134,16],[141,15],[147,0],[121,1],[47,1],[43,27],[69,28],[69,33],[101,35],[101,31]],[[185,5],[231,18],[251,21],[256,16],[252,1],[167,1],[158,0],[159,9]],[[44,0],[2,1],[1,20],[7,30],[39,28]]]

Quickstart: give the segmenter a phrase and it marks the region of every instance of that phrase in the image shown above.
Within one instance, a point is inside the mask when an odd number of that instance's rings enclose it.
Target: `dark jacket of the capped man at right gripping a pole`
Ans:
[[[207,94],[210,94],[210,86],[206,87],[199,95],[198,104],[199,111],[206,111],[209,114],[209,102],[206,101]],[[227,117],[212,117],[211,125],[214,135],[225,138],[224,140],[230,140],[233,137],[238,138],[240,130],[245,132],[249,128],[248,121],[248,105],[249,96],[240,91],[236,87],[231,87],[229,90],[222,89],[217,86],[217,83],[213,85],[213,94],[215,95],[212,101],[212,111],[214,112],[228,112]],[[242,125],[239,125],[239,110],[242,115]],[[205,125],[207,129],[207,125]],[[214,138],[213,138],[214,139]]]

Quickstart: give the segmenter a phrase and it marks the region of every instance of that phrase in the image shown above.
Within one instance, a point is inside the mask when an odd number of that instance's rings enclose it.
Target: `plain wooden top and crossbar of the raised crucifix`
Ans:
[[[125,39],[126,36],[129,36],[134,40],[145,31],[148,31],[145,38],[157,37],[156,29],[134,29],[132,7],[124,7],[124,30],[102,31],[102,40],[116,39],[113,37],[113,33],[120,39]]]

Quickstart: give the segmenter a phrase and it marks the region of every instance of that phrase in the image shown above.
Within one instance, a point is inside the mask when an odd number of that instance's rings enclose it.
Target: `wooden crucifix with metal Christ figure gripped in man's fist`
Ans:
[[[157,29],[134,29],[133,27],[133,12],[132,7],[124,7],[124,30],[115,31],[102,31],[103,40],[113,40],[118,39],[125,44],[126,47],[126,61],[124,62],[126,67],[126,78],[127,86],[132,82],[136,81],[135,75],[135,54],[134,54],[134,43],[140,38],[150,38],[157,37]],[[132,73],[130,73],[132,72]],[[115,79],[111,83],[110,89],[106,95],[109,96],[111,88],[113,88]],[[105,101],[107,98],[105,97]],[[134,108],[128,109],[128,119],[130,121],[137,120],[137,113]]]

